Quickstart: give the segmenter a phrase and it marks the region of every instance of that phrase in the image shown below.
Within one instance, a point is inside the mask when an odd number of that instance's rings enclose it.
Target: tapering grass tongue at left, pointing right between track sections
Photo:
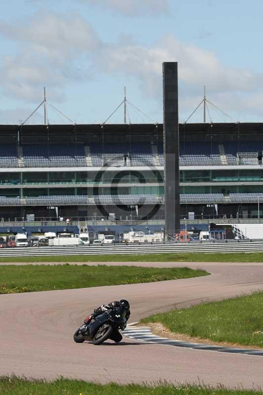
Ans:
[[[138,266],[23,265],[0,266],[0,293],[47,291],[136,284],[207,276],[189,268],[145,268]]]

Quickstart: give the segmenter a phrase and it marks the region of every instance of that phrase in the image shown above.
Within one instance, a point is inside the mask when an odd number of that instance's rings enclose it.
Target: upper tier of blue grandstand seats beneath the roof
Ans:
[[[226,163],[234,164],[256,164],[258,152],[262,152],[263,143],[224,143]],[[238,161],[238,155],[250,153],[247,159]],[[105,165],[103,155],[116,155],[117,162],[121,165],[121,157],[127,156],[126,166],[154,166],[156,158],[153,156],[150,143],[91,143],[90,155],[93,166],[101,167]],[[163,144],[157,144],[158,161],[161,166],[164,165]],[[2,144],[0,146],[0,166],[1,167],[73,167],[86,166],[84,144],[23,144],[20,156],[18,158],[17,146],[11,144]],[[113,158],[114,159],[114,158]],[[112,160],[113,160],[112,159]],[[106,160],[107,162],[107,160]],[[110,160],[111,162],[111,160]],[[114,160],[113,160],[114,162]],[[217,143],[209,142],[181,142],[180,143],[180,165],[221,165],[222,157],[219,153]]]

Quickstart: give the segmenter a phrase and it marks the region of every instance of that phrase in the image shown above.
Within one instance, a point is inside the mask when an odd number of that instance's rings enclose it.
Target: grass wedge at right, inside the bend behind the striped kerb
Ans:
[[[171,332],[219,343],[263,348],[263,292],[202,303],[144,318],[160,322]]]

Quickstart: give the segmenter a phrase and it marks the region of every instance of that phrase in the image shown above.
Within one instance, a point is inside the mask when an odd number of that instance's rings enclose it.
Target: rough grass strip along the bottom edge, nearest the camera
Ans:
[[[47,383],[16,377],[0,378],[1,395],[263,395],[262,391],[212,389],[200,386],[172,386],[159,384],[154,388],[139,385],[99,385],[85,381],[60,379]]]

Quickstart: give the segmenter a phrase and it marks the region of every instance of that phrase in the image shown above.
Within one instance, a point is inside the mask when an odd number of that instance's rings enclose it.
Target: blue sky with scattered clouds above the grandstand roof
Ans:
[[[127,122],[161,123],[165,61],[178,62],[180,122],[204,85],[207,121],[262,122],[262,15],[260,0],[3,1],[0,123],[28,118],[44,86],[49,123],[102,123],[124,86]],[[202,121],[200,106],[188,122]],[[43,123],[43,106],[27,123]]]

